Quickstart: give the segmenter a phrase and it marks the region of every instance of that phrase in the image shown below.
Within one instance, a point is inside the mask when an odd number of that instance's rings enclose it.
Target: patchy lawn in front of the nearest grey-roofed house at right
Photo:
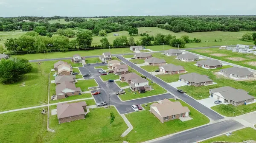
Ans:
[[[235,112],[234,116],[239,116],[242,114],[256,111],[256,103],[249,104],[249,105],[239,105],[239,106],[233,106],[231,104],[228,104],[228,105],[220,104],[220,105],[213,106],[211,108],[216,112],[220,113],[221,115],[224,115],[227,117],[233,117],[233,112]]]

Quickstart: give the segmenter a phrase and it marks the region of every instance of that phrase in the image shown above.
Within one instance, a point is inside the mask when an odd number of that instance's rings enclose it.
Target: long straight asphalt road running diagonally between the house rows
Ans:
[[[204,105],[200,104],[198,101],[195,101],[195,99],[191,98],[190,96],[177,92],[176,88],[174,88],[171,85],[167,84],[165,81],[162,81],[161,79],[158,79],[156,76],[151,76],[150,73],[148,73],[147,71],[145,71],[142,68],[138,67],[136,64],[128,61],[124,57],[122,57],[122,56],[116,56],[116,57],[121,59],[122,62],[124,62],[125,64],[128,64],[129,66],[132,66],[132,68],[134,68],[134,70],[137,70],[138,72],[140,72],[144,76],[147,76],[149,79],[152,77],[152,79],[151,79],[152,81],[154,81],[155,83],[159,84],[161,87],[163,87],[164,89],[168,90],[172,94],[176,95],[178,98],[180,98],[181,100],[185,101],[187,104],[189,104],[190,106],[194,107],[195,109],[197,109],[201,113],[205,114],[207,117],[211,118],[212,120],[217,121],[219,119],[223,119],[224,118],[221,115],[219,115],[218,113],[216,113],[216,112],[212,111],[211,109],[205,107]]]

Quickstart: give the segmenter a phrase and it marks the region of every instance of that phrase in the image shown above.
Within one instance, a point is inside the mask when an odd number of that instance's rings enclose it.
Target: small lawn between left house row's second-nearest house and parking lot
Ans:
[[[89,87],[97,87],[98,84],[94,79],[78,80],[76,87],[80,87],[82,91],[88,91]]]

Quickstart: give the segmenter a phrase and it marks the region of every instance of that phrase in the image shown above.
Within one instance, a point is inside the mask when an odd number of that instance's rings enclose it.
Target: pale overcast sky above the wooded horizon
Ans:
[[[0,17],[252,14],[256,0],[0,0]]]

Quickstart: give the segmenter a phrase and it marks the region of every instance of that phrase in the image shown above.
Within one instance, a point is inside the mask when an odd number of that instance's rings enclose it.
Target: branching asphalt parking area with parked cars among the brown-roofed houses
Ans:
[[[100,101],[106,101],[108,102],[109,105],[109,97],[110,97],[110,103],[111,105],[115,105],[116,109],[119,111],[120,114],[125,114],[129,112],[134,112],[133,109],[131,109],[132,104],[145,104],[149,102],[154,102],[154,101],[159,101],[163,100],[165,98],[174,98],[171,94],[162,94],[162,95],[156,95],[156,96],[151,96],[147,98],[140,98],[140,99],[135,99],[131,101],[121,101],[117,95],[115,94],[118,90],[121,90],[114,82],[108,83],[106,81],[102,81],[99,76],[99,70],[100,69],[94,69],[93,67],[96,66],[102,66],[106,64],[91,64],[91,65],[84,65],[85,67],[79,67],[79,70],[81,71],[81,74],[89,73],[91,76],[89,77],[84,77],[84,79],[95,79],[97,83],[99,84],[99,89],[98,90],[93,90],[94,91],[100,91],[101,93],[99,95],[94,95],[93,97],[95,98],[96,102]]]

